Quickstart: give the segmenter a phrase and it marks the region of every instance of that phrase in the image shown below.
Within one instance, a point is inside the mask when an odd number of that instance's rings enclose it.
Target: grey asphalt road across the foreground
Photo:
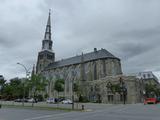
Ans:
[[[93,111],[64,112],[2,108],[0,120],[160,120],[160,104],[87,104],[86,106],[92,107]]]

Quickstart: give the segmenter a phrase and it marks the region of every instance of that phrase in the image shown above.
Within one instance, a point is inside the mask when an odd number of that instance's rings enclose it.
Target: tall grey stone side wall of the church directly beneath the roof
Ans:
[[[86,63],[64,66],[59,68],[49,69],[43,72],[44,76],[48,80],[52,80],[52,87],[48,87],[48,93],[50,96],[54,96],[54,81],[56,79],[65,80],[65,97],[70,98],[72,96],[72,83],[82,83],[85,81],[93,81],[104,78],[109,75],[122,74],[121,64],[119,59],[100,59],[96,61],[90,61]],[[52,89],[52,90],[50,90]]]

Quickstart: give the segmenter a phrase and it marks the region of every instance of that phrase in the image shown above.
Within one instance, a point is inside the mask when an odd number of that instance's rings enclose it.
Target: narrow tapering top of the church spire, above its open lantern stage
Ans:
[[[44,40],[51,40],[51,9],[49,9],[49,16],[48,16],[48,21],[46,25]]]

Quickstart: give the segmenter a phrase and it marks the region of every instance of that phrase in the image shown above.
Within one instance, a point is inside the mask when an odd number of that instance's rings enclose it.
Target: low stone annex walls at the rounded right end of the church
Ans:
[[[108,83],[112,85],[118,84],[120,78],[123,80],[127,89],[126,103],[139,103],[143,102],[143,89],[142,81],[135,76],[107,76],[105,78],[89,81],[86,84],[88,99],[93,102],[101,101],[102,103],[123,103],[120,93],[109,90]],[[111,99],[111,100],[109,100]],[[112,100],[113,99],[113,100]]]

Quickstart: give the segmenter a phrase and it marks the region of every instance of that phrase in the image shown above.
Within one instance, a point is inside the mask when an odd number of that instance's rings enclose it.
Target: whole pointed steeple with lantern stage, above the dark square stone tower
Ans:
[[[51,40],[51,11],[49,10],[49,16],[47,20],[46,30],[44,39],[42,41],[42,50],[52,51],[52,40]]]

